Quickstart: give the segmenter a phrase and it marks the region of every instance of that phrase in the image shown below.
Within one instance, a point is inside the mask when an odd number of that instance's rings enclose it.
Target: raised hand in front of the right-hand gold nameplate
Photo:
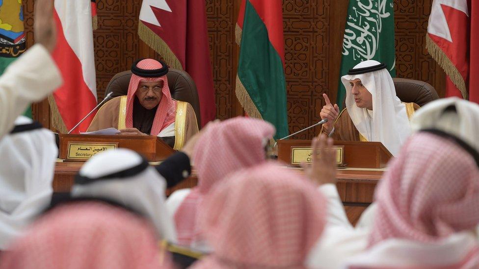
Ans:
[[[336,150],[333,146],[333,139],[321,134],[312,142],[313,162],[301,164],[306,176],[316,185],[326,183],[336,184]]]

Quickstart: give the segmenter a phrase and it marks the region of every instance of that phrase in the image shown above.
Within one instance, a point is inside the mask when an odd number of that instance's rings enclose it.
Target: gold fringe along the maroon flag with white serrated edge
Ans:
[[[145,42],[152,49],[155,49],[155,51],[158,52],[161,57],[163,57],[169,67],[183,70],[183,67],[181,66],[181,63],[176,57],[175,53],[171,51],[168,45],[157,34],[155,34],[142,22],[138,23],[138,35],[143,42]]]

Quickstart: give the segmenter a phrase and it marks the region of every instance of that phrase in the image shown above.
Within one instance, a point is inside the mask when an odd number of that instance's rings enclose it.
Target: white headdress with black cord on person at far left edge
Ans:
[[[0,250],[50,203],[58,150],[50,130],[20,116],[0,141]]]

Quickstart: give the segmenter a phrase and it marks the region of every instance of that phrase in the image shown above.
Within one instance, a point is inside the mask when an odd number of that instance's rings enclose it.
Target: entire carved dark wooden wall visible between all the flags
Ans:
[[[98,0],[98,30],[94,31],[97,93],[103,98],[106,84],[118,72],[128,70],[139,57],[159,55],[139,40],[136,33],[141,1]],[[216,117],[242,114],[235,96],[238,47],[235,25],[240,0],[205,0]],[[432,0],[395,0],[397,74],[424,80],[440,96],[444,72],[427,54],[425,35]],[[33,44],[33,0],[24,0],[27,46]],[[348,0],[283,0],[288,120],[290,132],[319,120],[322,93],[333,100],[338,88],[341,47]],[[35,119],[49,126],[48,102],[33,106]],[[297,139],[309,139],[319,129]]]

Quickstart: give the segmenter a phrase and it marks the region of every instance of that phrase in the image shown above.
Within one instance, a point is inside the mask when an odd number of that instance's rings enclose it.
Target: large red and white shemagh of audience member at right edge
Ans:
[[[434,243],[479,223],[479,169],[455,142],[417,133],[375,193],[370,246],[398,238]]]

